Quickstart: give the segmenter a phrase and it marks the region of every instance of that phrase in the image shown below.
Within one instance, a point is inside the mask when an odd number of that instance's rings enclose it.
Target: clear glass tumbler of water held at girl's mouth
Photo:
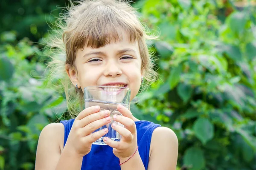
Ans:
[[[113,130],[111,125],[113,122],[122,127],[124,125],[119,122],[113,121],[112,116],[115,114],[122,115],[119,111],[117,111],[117,105],[121,104],[126,108],[129,107],[130,95],[131,90],[129,88],[119,86],[87,86],[84,88],[85,108],[99,105],[101,111],[109,110],[111,113],[111,122],[107,125],[100,127],[94,132],[102,130],[104,128],[108,128],[108,133],[105,136],[114,141],[120,141],[121,135],[116,132],[116,130]],[[93,144],[106,145],[103,142],[103,138],[105,136],[102,136],[100,139],[96,140],[96,142],[93,142]]]

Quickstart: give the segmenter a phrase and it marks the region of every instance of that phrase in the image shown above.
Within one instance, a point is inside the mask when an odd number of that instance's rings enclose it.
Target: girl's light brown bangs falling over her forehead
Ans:
[[[90,20],[81,19],[80,26],[74,31],[72,36],[74,43],[71,43],[73,51],[84,47],[99,48],[111,42],[121,42],[123,34],[126,34],[130,42],[138,41],[143,37],[140,24],[129,19],[128,16],[120,16],[105,6],[93,13],[95,16],[90,17]]]

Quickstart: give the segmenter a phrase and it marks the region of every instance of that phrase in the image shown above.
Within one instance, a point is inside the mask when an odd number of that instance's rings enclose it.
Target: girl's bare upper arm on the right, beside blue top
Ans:
[[[157,127],[152,134],[148,170],[176,170],[178,139],[167,127]]]

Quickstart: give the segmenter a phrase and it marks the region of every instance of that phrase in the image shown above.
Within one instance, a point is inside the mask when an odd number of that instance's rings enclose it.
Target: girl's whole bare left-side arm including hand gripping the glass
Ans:
[[[92,143],[108,133],[105,128],[91,134],[111,121],[110,111],[99,110],[99,106],[92,106],[78,114],[62,151],[64,125],[52,123],[44,127],[38,140],[35,170],[80,170]]]

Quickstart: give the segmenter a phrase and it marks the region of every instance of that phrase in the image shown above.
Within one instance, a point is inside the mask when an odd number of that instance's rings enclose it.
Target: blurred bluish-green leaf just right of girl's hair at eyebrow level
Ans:
[[[163,59],[169,59],[173,54],[174,49],[167,42],[157,41],[155,43],[157,52],[160,54],[160,57]]]

